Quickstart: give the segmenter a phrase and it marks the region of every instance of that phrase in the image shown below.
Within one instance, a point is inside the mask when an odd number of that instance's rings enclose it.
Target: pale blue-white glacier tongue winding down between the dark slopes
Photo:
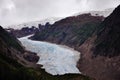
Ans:
[[[40,59],[38,64],[52,75],[63,75],[68,73],[79,74],[76,67],[80,53],[66,46],[56,45],[48,42],[33,41],[28,37],[19,38],[23,46],[29,51],[38,53]]]

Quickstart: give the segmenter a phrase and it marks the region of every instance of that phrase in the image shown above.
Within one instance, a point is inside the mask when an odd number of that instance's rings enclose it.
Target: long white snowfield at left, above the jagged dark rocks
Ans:
[[[51,18],[40,20],[40,21],[33,21],[33,22],[23,23],[23,24],[19,24],[19,25],[11,25],[11,26],[7,26],[7,27],[8,28],[14,28],[14,29],[21,29],[23,27],[32,27],[32,26],[38,27],[38,24],[45,25],[46,22],[49,22],[50,24],[53,24],[54,22],[56,22],[60,19],[62,19],[62,18],[51,17]]]

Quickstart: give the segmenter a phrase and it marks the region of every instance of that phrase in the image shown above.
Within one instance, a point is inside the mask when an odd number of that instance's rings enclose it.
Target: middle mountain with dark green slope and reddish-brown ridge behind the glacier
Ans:
[[[67,17],[37,32],[31,39],[77,48],[92,36],[103,19],[101,16],[91,14]]]

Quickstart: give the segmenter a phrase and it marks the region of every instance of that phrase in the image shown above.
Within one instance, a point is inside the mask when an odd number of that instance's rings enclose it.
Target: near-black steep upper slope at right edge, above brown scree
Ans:
[[[120,6],[100,26],[94,54],[109,57],[120,55]]]

